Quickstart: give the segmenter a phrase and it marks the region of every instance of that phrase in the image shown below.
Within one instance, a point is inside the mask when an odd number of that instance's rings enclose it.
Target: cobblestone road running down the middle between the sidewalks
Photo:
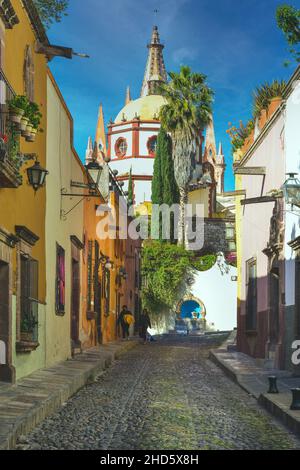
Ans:
[[[126,353],[46,419],[23,449],[300,449],[208,359],[213,339],[169,337]]]

